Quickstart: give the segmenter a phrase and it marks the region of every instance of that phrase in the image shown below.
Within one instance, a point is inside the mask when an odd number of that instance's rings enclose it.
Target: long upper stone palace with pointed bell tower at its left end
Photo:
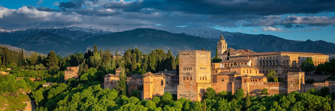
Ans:
[[[223,42],[224,44],[222,44]],[[315,66],[329,61],[329,56],[321,53],[282,51],[256,53],[249,49],[227,49],[226,46],[227,41],[225,41],[223,35],[221,35],[217,44],[218,56],[223,60],[220,62],[220,68],[232,67],[242,64],[243,62],[243,64],[255,66],[260,70],[260,73],[267,74],[269,70],[273,69],[278,74],[284,74],[287,72],[300,72],[301,68],[299,66],[302,65],[308,57],[312,58]]]

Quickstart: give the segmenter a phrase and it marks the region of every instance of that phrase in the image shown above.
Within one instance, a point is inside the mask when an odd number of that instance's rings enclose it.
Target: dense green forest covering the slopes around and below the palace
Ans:
[[[110,50],[98,50],[75,53],[65,57],[50,51],[47,56],[37,53],[23,55],[23,51],[15,52],[0,46],[2,70],[8,75],[0,76],[0,108],[7,110],[23,110],[26,100],[34,100],[37,111],[335,111],[335,93],[329,89],[310,89],[308,93],[291,92],[287,95],[244,96],[243,89],[235,93],[216,92],[207,88],[202,101],[177,99],[175,94],[164,93],[152,100],[140,100],[138,93],[128,95],[126,77],[133,74],[155,73],[164,69],[178,71],[179,55],[171,51],[156,49],[143,54],[139,49],[128,49],[124,54]],[[217,59],[217,57],[214,57]],[[335,60],[325,63],[323,67],[333,67]],[[79,66],[79,77],[71,78],[64,83],[64,70],[68,66]],[[103,89],[103,76],[115,73],[115,69],[123,67],[119,87]],[[6,70],[11,68],[11,70]],[[331,73],[327,68],[317,67],[321,73]],[[322,69],[322,70],[321,70]],[[328,71],[328,72],[327,72]],[[37,81],[32,81],[36,79]],[[52,86],[42,87],[44,83]],[[134,91],[136,92],[136,91]],[[9,104],[9,105],[5,105]]]

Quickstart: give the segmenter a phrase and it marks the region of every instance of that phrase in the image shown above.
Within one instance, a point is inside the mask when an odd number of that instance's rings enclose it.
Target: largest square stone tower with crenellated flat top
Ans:
[[[178,99],[201,101],[211,82],[210,51],[180,51]]]

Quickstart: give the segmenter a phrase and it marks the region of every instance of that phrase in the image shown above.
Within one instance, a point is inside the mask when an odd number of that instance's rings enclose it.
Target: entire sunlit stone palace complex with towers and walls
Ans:
[[[219,63],[211,63],[210,51],[192,50],[180,51],[179,73],[177,71],[147,72],[127,78],[128,91],[140,90],[144,100],[165,92],[176,94],[179,98],[201,101],[207,88],[217,92],[243,89],[245,94],[261,94],[261,90],[268,89],[269,94],[287,94],[292,91],[307,92],[311,88],[329,87],[335,92],[335,81],[305,84],[305,72],[300,65],[310,57],[314,65],[328,61],[329,56],[320,53],[302,52],[261,52],[249,49],[227,48],[227,41],[221,35],[218,44]],[[266,74],[275,70],[284,82],[268,82]],[[104,76],[104,88],[118,86],[119,74]]]

